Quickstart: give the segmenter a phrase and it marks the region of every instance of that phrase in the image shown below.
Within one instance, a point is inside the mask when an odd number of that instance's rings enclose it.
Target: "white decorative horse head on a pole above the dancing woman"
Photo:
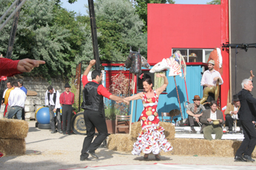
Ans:
[[[170,58],[164,58],[161,62],[155,64],[155,66],[152,67],[149,72],[161,72],[164,69],[169,69],[169,76],[182,76],[182,67],[186,67],[185,61],[181,55],[181,52],[176,51]]]

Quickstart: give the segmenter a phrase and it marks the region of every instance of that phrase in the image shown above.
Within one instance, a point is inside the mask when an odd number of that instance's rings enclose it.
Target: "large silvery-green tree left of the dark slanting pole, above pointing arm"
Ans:
[[[0,15],[13,1],[0,0]],[[12,22],[0,33],[0,52],[4,55]],[[90,27],[81,20],[76,21],[75,13],[61,8],[58,0],[26,1],[18,20],[12,58],[46,61],[27,75],[69,77],[74,75],[78,61],[92,59],[92,54]]]

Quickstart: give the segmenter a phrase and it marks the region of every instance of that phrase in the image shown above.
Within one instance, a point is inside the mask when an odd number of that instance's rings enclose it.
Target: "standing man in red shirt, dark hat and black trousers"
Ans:
[[[62,132],[63,135],[71,135],[71,115],[73,112],[72,105],[74,103],[75,95],[70,92],[70,84],[65,84],[65,92],[61,93],[59,102],[62,106]]]

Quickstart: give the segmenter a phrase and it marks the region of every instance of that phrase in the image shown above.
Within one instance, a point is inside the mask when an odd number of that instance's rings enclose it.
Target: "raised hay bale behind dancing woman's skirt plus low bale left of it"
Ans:
[[[172,123],[160,122],[167,140],[175,137],[175,127]],[[131,135],[129,134],[112,134],[108,137],[108,149],[119,152],[132,152],[133,143],[136,142],[138,134],[141,132],[141,122],[132,123]]]

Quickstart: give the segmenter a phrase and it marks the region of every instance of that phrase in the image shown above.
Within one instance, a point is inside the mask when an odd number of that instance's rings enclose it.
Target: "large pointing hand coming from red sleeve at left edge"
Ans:
[[[31,72],[34,67],[39,67],[40,64],[45,64],[45,61],[25,58],[18,61],[17,69],[19,72]]]

